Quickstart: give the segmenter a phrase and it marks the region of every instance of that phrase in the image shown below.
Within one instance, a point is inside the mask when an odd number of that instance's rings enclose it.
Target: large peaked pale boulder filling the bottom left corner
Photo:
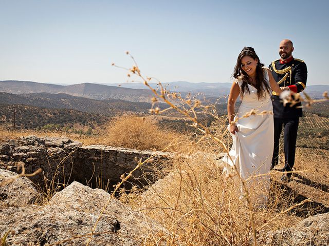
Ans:
[[[2,209],[0,232],[11,230],[8,245],[85,245],[105,206],[89,245],[140,245],[150,228],[164,231],[104,190],[73,182],[44,207]]]

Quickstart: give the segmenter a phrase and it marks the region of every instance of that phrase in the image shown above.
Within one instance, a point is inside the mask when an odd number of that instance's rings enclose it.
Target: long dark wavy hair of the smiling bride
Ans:
[[[250,56],[251,58],[258,60],[258,64],[256,67],[255,84],[253,86],[254,86],[254,88],[257,89],[258,99],[260,99],[262,97],[265,98],[266,92],[268,94],[270,93],[270,87],[267,84],[265,77],[264,77],[264,69],[263,69],[264,64],[261,63],[255,50],[251,47],[243,48],[242,51],[240,52],[239,56],[237,56],[236,65],[234,67],[234,72],[232,74],[232,76],[234,78],[242,80],[240,95],[241,95],[241,97],[243,97],[243,94],[245,93],[245,91],[248,91],[250,94],[249,88],[247,86],[247,84],[249,84],[249,76],[245,71],[242,70],[242,67],[241,67],[241,59],[245,56]]]

